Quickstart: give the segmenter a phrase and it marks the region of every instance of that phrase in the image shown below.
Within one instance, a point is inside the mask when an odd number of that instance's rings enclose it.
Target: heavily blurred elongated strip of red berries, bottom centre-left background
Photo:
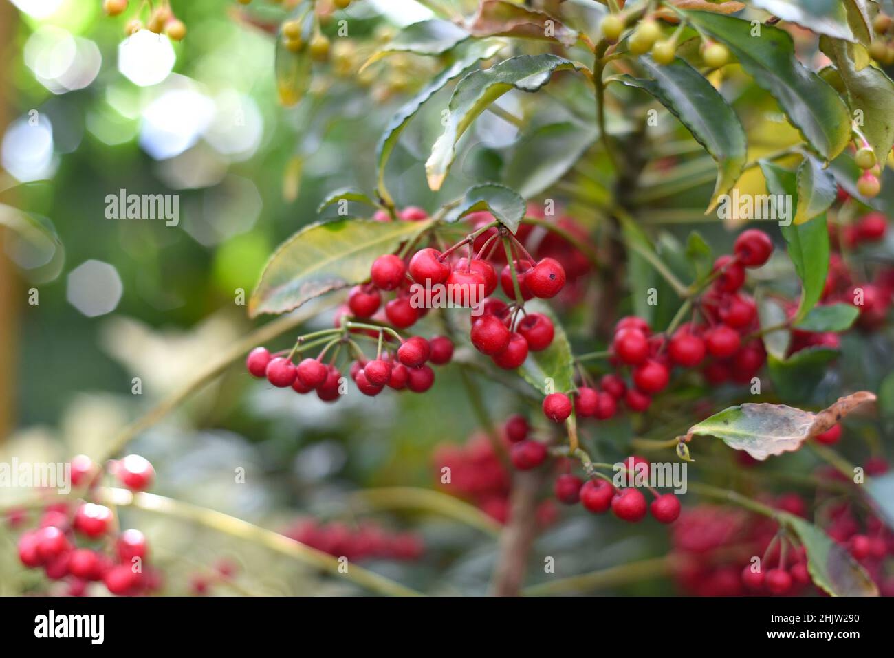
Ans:
[[[343,523],[300,519],[283,535],[317,551],[350,561],[387,559],[418,560],[425,552],[422,537],[412,532],[393,533],[371,523],[351,528]]]

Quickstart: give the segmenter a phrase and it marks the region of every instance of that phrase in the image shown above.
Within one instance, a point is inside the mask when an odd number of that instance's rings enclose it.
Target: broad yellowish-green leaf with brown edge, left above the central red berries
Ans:
[[[286,313],[309,299],[366,281],[373,261],[431,226],[345,218],[305,226],[274,251],[249,299],[249,316]]]

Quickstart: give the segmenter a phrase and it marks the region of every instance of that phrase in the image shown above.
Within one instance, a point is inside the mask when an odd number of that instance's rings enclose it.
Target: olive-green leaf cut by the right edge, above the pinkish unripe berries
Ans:
[[[883,163],[894,146],[894,82],[873,65],[859,66],[858,46],[834,39],[822,39],[821,46],[838,69],[851,109],[863,115],[860,130]]]

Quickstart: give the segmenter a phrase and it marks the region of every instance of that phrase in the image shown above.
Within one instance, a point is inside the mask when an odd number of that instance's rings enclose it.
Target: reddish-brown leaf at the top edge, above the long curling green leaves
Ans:
[[[574,46],[578,40],[578,32],[549,14],[507,0],[483,0],[468,30],[476,37],[538,38],[563,46]]]

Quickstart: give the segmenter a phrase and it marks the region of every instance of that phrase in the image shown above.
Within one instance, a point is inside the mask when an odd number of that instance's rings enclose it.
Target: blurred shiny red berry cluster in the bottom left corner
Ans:
[[[110,462],[108,471],[132,491],[148,488],[155,477],[152,465],[139,455]],[[98,469],[89,457],[79,455],[72,460],[72,486],[92,487],[97,481]],[[9,519],[13,526],[25,521],[24,512]],[[91,581],[102,581],[114,595],[156,591],[161,576],[146,564],[146,537],[132,528],[119,532],[116,523],[105,505],[51,503],[43,510],[38,527],[19,537],[19,560],[31,569],[43,568],[46,578],[65,579],[70,595],[83,595]]]

